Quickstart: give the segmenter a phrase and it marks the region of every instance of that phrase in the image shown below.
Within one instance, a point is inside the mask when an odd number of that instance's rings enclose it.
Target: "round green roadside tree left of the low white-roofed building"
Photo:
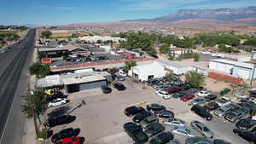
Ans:
[[[29,72],[32,75],[36,75],[37,78],[44,78],[50,73],[50,69],[47,65],[41,65],[40,62],[35,62],[30,66]]]

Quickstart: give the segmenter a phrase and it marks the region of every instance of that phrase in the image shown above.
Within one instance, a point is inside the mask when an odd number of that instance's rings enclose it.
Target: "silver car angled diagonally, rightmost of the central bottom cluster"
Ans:
[[[190,123],[191,127],[195,130],[197,130],[198,132],[201,133],[201,135],[207,137],[207,138],[213,138],[213,132],[212,130],[209,130],[209,128],[207,128],[206,124],[203,124],[199,121],[192,121]]]

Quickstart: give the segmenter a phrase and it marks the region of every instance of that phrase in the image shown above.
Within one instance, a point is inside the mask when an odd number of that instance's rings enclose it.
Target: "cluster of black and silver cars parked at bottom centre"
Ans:
[[[194,130],[187,127],[184,120],[175,118],[171,110],[167,110],[165,106],[157,103],[148,104],[146,108],[127,107],[125,115],[133,117],[132,122],[124,124],[124,130],[136,144],[148,141],[149,144],[181,144],[181,141],[174,139],[174,135],[187,136],[186,144],[230,144],[219,139],[212,141],[214,134],[207,128],[207,125],[199,121],[192,121],[191,128],[201,134],[196,135]],[[170,127],[171,130],[167,130],[167,127]]]

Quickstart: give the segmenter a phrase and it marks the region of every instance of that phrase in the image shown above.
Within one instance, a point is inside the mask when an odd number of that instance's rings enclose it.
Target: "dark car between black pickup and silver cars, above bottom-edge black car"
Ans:
[[[146,130],[144,130],[144,132],[148,136],[154,136],[164,130],[165,130],[165,126],[163,124],[154,123],[154,124],[151,124],[150,126],[148,126],[148,128]]]

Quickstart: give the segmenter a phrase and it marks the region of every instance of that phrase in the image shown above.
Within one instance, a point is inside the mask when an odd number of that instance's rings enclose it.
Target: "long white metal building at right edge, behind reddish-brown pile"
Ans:
[[[219,72],[230,73],[230,75],[238,78],[250,79],[253,75],[254,65],[240,61],[213,59],[209,61],[209,68]],[[253,78],[256,78],[255,73]]]

